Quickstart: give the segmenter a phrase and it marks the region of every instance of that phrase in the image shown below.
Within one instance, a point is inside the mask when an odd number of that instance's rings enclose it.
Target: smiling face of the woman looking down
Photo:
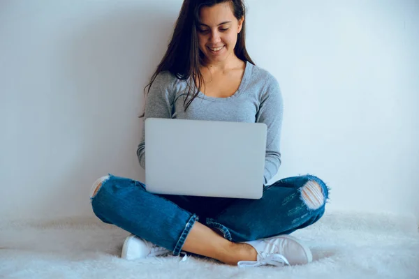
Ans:
[[[219,3],[200,10],[198,23],[199,48],[207,62],[224,61],[234,55],[237,34],[242,30],[243,19],[233,15],[233,3]]]

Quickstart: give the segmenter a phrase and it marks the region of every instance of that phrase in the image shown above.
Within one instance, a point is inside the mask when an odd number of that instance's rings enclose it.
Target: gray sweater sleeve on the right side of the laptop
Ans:
[[[260,98],[256,122],[267,126],[264,185],[277,174],[281,165],[281,152],[279,151],[281,139],[281,126],[284,115],[284,103],[279,84],[274,77],[267,80]]]

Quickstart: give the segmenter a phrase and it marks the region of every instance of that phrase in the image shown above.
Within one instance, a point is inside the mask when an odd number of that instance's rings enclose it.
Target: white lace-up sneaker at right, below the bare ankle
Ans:
[[[258,252],[256,262],[240,261],[239,267],[247,266],[284,266],[295,264],[308,264],[313,260],[313,255],[307,246],[293,236],[281,235],[245,242]]]

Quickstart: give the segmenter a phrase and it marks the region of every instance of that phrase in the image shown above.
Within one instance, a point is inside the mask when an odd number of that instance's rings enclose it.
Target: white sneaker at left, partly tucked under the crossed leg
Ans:
[[[144,259],[146,257],[157,257],[170,253],[166,248],[141,239],[131,234],[124,241],[122,246],[122,259]]]

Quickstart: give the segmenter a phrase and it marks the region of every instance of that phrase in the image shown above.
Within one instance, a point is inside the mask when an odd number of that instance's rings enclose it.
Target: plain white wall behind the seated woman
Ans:
[[[181,5],[0,3],[0,216],[90,215],[92,181],[144,179],[142,87]],[[330,209],[419,219],[418,1],[247,0],[249,53],[281,84],[283,165]]]

